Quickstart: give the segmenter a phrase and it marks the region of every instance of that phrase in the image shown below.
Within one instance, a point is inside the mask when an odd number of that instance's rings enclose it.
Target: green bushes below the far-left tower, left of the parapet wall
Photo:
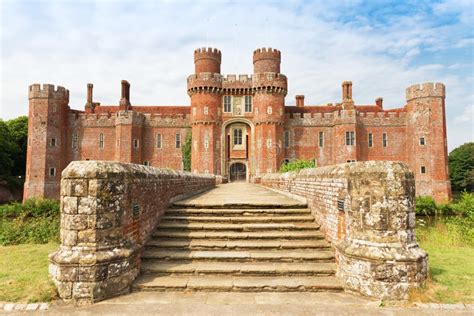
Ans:
[[[0,245],[59,241],[59,202],[27,200],[0,206]]]

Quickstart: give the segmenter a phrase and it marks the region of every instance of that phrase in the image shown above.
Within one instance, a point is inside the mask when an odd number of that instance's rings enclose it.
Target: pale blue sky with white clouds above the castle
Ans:
[[[448,148],[474,141],[474,1],[0,1],[0,118],[28,114],[27,89],[51,83],[83,109],[189,105],[193,51],[222,51],[223,74],[252,73],[252,52],[282,52],[287,105],[341,101],[403,107],[416,83],[446,85]]]

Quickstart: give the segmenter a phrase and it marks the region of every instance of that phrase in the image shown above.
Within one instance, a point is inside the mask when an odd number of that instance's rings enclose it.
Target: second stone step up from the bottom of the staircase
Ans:
[[[201,262],[143,260],[142,273],[160,275],[226,274],[226,275],[334,275],[334,263],[255,263],[255,262]]]

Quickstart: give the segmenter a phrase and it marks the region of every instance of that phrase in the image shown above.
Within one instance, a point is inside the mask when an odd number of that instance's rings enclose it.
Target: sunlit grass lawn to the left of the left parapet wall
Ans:
[[[48,254],[56,249],[56,243],[0,246],[0,301],[50,301],[56,291],[48,276]]]

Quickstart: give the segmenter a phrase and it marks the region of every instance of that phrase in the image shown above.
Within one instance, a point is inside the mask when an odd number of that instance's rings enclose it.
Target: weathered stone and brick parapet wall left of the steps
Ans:
[[[88,304],[129,291],[141,249],[170,201],[215,182],[135,164],[72,162],[61,180],[61,246],[49,257],[59,296]]]

